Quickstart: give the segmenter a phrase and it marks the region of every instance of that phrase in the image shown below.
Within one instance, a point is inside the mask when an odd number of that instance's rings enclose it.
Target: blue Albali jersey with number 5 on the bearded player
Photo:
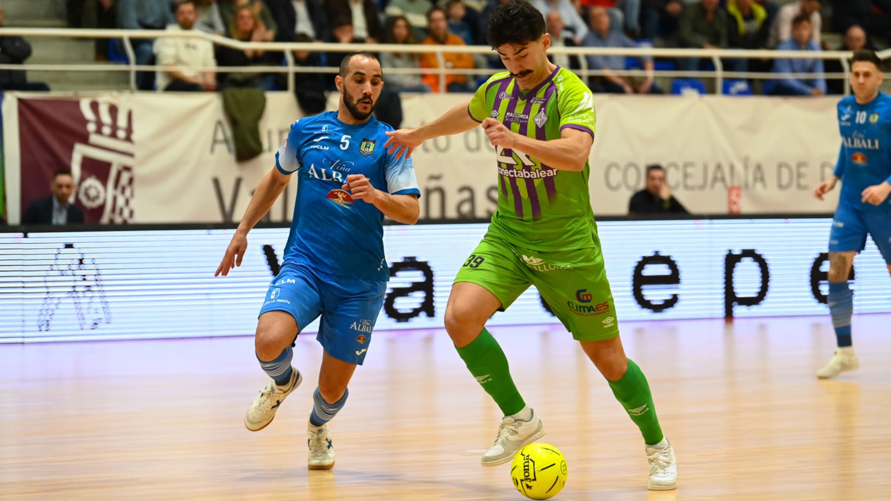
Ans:
[[[377,190],[417,194],[411,159],[384,149],[393,127],[371,117],[360,125],[339,121],[337,112],[300,118],[275,154],[282,174],[299,176],[294,218],[284,261],[356,279],[388,280],[384,214],[342,190],[349,174],[364,174]]]

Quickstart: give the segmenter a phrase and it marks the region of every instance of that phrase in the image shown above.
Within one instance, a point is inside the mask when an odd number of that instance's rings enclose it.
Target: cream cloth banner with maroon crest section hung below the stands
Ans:
[[[26,97],[28,96],[28,97]],[[237,222],[300,111],[289,93],[267,93],[259,124],[264,152],[236,162],[217,94],[110,94],[36,98],[7,93],[4,146],[12,223],[46,196],[54,170],[70,166],[75,199],[92,222]],[[438,117],[467,94],[405,95],[403,126]],[[330,108],[336,107],[332,95]],[[838,156],[835,98],[595,97],[591,154],[594,214],[626,214],[628,199],[658,163],[694,214],[728,213],[738,187],[743,214],[830,213],[811,195]],[[494,149],[479,129],[427,141],[414,153],[421,217],[488,218],[495,210]],[[289,221],[296,182],[268,221]]]

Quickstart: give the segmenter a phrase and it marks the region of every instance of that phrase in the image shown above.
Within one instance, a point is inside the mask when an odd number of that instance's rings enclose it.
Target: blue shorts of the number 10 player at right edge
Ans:
[[[891,211],[861,211],[838,204],[830,231],[830,252],[860,252],[866,235],[879,247],[885,263],[891,264]]]

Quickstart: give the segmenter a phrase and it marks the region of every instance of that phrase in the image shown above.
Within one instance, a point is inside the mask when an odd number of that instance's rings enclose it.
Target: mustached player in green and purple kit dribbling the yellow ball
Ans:
[[[674,450],[658,424],[646,377],[625,357],[588,195],[593,96],[576,75],[548,61],[551,36],[544,31],[541,12],[527,2],[499,6],[488,43],[508,71],[429,124],[388,132],[387,146],[397,157],[411,155],[422,141],[480,124],[495,146],[498,210],[458,273],[446,307],[446,330],[459,355],[504,413],[482,464],[506,463],[544,435],[485,328],[495,311],[535,285],[640,427],[649,488],[674,489]]]

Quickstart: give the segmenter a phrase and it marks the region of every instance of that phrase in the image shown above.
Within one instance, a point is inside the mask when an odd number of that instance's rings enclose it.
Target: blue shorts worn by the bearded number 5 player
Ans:
[[[387,282],[334,277],[304,263],[286,262],[269,284],[260,315],[287,311],[301,330],[321,315],[315,339],[325,352],[362,365],[386,292]]]

